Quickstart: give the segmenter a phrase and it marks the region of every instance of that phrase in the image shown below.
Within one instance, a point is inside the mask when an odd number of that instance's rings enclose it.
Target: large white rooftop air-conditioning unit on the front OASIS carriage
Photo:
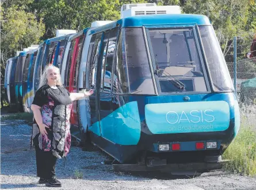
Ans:
[[[140,4],[139,4],[140,5]],[[151,14],[181,14],[180,6],[136,6],[121,11],[121,18]]]

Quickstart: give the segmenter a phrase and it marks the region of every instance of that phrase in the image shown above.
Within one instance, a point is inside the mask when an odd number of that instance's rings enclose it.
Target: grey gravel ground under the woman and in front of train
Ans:
[[[38,184],[35,149],[30,150],[31,127],[23,120],[1,122],[1,189],[49,189]],[[256,189],[256,179],[224,171],[212,171],[193,177],[193,173],[122,173],[102,164],[109,156],[99,149],[93,152],[71,147],[64,160],[58,160],[56,175],[62,182],[54,189]],[[82,179],[77,179],[82,177]]]

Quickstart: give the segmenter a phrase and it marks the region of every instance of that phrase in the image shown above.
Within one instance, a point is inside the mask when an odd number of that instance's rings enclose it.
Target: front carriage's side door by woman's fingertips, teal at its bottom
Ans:
[[[86,65],[86,88],[93,89],[94,93],[89,96],[89,105],[91,120],[89,122],[89,130],[93,133],[101,136],[100,129],[100,116],[98,113],[98,96],[100,87],[100,82],[97,82],[97,67],[98,67],[98,57],[100,56],[102,33],[94,34],[91,37],[89,54]]]

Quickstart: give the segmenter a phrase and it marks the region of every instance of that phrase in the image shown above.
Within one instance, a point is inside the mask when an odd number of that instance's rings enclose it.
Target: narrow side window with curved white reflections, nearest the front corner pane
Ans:
[[[116,38],[117,38],[118,28],[110,30],[109,40],[108,40],[108,49],[106,50],[106,61],[104,69],[104,91],[110,92],[111,89],[111,77],[112,77],[112,65],[114,50],[116,47]]]

